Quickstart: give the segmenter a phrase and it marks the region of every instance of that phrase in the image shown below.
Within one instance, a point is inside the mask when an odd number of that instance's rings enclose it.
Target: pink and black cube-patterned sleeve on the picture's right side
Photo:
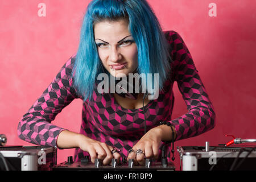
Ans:
[[[213,129],[216,115],[183,39],[177,32],[170,31],[168,42],[171,45],[174,80],[188,109],[188,113],[168,122],[175,127],[176,140],[195,137]]]

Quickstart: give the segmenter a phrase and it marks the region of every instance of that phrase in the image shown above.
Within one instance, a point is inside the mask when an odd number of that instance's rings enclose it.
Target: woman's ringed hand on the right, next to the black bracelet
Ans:
[[[144,158],[158,159],[159,146],[162,139],[162,130],[158,127],[154,127],[147,131],[146,134],[133,146],[133,151],[127,156],[127,161],[129,159],[134,159],[135,164],[144,165]],[[143,153],[136,154],[138,150]]]

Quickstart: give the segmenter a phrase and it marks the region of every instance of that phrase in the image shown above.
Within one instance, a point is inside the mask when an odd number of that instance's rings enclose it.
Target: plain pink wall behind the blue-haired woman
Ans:
[[[163,30],[179,32],[213,102],[216,127],[176,146],[226,143],[233,134],[255,138],[256,16],[254,0],[148,0]],[[210,3],[217,17],[210,17]],[[46,17],[38,4],[46,4]],[[0,6],[0,133],[9,145],[20,140],[20,118],[34,104],[62,65],[77,51],[82,17],[89,0],[1,0]],[[177,85],[172,118],[187,112]],[[74,100],[57,115],[55,125],[79,132],[82,101]],[[58,163],[74,149],[58,150]],[[179,169],[179,156],[175,152]]]

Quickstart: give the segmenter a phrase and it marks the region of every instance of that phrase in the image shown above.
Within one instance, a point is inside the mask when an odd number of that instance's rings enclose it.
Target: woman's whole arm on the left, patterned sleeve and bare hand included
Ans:
[[[117,152],[112,154],[112,146],[51,123],[65,106],[75,98],[79,98],[76,89],[73,87],[71,76],[74,62],[75,58],[71,57],[42,96],[23,115],[18,125],[18,136],[20,139],[41,146],[79,147],[81,150],[89,152],[93,163],[96,158],[102,159],[104,165],[110,163],[112,158],[119,160],[121,156]]]

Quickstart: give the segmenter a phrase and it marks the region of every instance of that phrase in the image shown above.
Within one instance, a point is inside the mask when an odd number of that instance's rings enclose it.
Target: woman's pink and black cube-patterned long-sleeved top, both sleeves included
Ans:
[[[172,72],[164,84],[164,92],[159,92],[159,97],[144,107],[146,127],[151,129],[159,126],[160,121],[167,121],[175,127],[176,140],[195,137],[213,129],[216,121],[213,106],[183,39],[175,31],[166,31],[164,34],[170,44]],[[42,146],[56,146],[57,137],[64,129],[53,125],[51,121],[75,98],[83,99],[73,85],[71,73],[74,63],[75,56],[72,56],[42,96],[23,115],[18,125],[20,139]],[[177,81],[188,109],[188,113],[176,119],[171,118],[174,81]],[[80,133],[119,148],[122,158],[127,157],[128,150],[144,134],[143,109],[125,109],[115,101],[112,94],[100,94],[94,90],[93,101],[83,102],[82,105]],[[75,160],[78,161],[84,155],[88,155],[87,152],[77,148]]]

